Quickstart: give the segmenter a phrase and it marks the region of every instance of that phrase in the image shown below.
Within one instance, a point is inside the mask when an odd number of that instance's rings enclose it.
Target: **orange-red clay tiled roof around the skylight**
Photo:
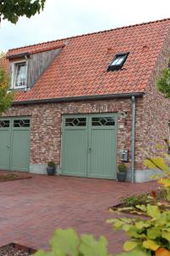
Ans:
[[[18,92],[15,102],[144,92],[169,31],[170,19],[157,20],[10,49],[8,55],[34,53],[66,41],[32,89]],[[107,72],[122,52],[129,52],[122,70]]]

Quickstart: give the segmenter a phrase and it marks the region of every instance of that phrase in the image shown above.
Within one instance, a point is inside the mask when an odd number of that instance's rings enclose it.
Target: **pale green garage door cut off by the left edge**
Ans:
[[[29,171],[30,119],[0,119],[0,170]]]

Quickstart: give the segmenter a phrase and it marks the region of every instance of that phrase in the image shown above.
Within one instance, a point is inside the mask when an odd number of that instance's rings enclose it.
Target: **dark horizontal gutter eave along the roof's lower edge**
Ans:
[[[114,98],[130,98],[132,96],[144,96],[144,92],[133,92],[133,93],[120,93],[110,95],[95,95],[95,96],[73,96],[63,98],[52,98],[52,99],[40,99],[40,100],[29,100],[13,102],[12,105],[29,105],[29,104],[40,104],[40,103],[55,103],[55,102],[81,102],[81,101],[97,101]]]

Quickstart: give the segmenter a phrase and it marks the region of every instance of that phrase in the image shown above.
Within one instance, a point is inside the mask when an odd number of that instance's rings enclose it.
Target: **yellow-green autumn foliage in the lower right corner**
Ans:
[[[147,157],[144,164],[150,169],[161,171],[163,177],[159,178],[158,183],[161,183],[162,190],[166,190],[165,202],[155,201],[155,205],[136,205],[135,213],[143,213],[146,218],[112,218],[107,221],[113,224],[115,230],[124,230],[130,237],[123,246],[124,251],[129,251],[129,255],[135,255],[136,249],[145,253],[144,255],[170,255],[170,170],[167,164],[170,157],[168,154],[163,156]]]

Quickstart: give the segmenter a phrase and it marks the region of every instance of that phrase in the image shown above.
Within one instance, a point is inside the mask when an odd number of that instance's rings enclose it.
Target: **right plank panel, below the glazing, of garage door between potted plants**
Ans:
[[[88,177],[116,178],[116,142],[114,130],[91,131],[90,170]]]

